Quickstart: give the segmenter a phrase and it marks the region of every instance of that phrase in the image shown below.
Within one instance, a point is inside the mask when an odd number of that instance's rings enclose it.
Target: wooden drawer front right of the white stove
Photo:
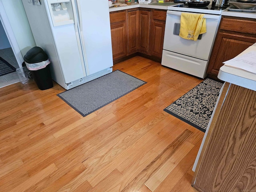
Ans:
[[[256,21],[222,18],[220,29],[256,34]]]

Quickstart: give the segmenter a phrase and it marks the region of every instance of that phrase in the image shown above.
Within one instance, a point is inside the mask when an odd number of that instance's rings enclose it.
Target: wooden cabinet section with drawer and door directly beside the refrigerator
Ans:
[[[110,29],[112,40],[113,60],[127,54],[126,48],[126,11],[110,13]]]

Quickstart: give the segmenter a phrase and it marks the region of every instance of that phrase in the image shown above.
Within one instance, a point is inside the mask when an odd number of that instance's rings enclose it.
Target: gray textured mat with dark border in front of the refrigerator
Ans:
[[[116,70],[57,96],[85,117],[144,84],[146,82]]]

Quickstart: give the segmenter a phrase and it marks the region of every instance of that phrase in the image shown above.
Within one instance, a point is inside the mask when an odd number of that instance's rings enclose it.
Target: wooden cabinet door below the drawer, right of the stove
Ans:
[[[217,78],[220,67],[224,65],[222,62],[234,58],[254,42],[256,38],[220,32],[214,44],[207,73]]]

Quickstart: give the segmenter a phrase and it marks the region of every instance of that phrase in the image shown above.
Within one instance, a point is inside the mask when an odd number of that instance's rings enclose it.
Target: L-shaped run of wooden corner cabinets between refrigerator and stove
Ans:
[[[161,62],[166,10],[134,8],[110,12],[114,64],[140,55]]]

